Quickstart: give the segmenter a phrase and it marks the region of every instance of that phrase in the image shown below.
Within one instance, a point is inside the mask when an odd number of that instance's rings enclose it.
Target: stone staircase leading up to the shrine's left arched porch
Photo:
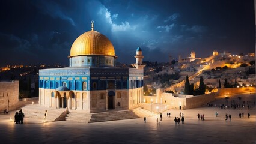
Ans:
[[[66,109],[52,109],[49,107],[41,107],[38,106],[38,104],[29,104],[20,109],[22,109],[22,112],[25,115],[24,123],[53,122],[66,111]],[[44,119],[44,113],[46,113],[46,110],[47,116],[46,119]]]

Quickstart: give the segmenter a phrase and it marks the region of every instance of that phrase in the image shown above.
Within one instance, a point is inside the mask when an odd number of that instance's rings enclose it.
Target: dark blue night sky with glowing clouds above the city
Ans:
[[[0,1],[0,67],[69,65],[79,35],[94,30],[115,47],[117,62],[255,52],[253,0]]]

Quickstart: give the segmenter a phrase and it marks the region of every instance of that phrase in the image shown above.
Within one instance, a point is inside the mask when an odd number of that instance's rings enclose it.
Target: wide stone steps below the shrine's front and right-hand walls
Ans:
[[[132,110],[109,111],[101,113],[86,113],[82,110],[69,110],[66,121],[76,122],[104,122],[104,121],[117,121],[122,119],[139,118]]]

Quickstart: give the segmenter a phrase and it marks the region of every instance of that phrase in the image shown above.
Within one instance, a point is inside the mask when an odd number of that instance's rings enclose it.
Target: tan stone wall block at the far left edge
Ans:
[[[0,82],[0,112],[13,110],[19,101],[19,81]]]

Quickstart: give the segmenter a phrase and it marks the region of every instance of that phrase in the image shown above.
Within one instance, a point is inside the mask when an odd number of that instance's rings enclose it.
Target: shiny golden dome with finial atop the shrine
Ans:
[[[80,35],[72,44],[70,56],[80,55],[115,56],[115,49],[105,35],[93,30],[92,25],[91,31]]]

